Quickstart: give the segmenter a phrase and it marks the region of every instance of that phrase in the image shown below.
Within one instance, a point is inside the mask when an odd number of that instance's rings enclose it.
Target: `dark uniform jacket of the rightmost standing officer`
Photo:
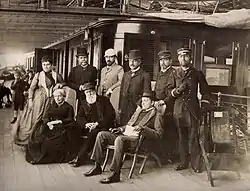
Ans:
[[[180,87],[183,83],[187,84],[185,91],[180,95],[174,96],[173,90]],[[200,94],[202,95],[201,100],[209,101],[209,87],[205,76],[201,71],[198,71],[194,67],[190,67],[187,72],[184,72],[182,68],[178,68],[170,75],[168,81],[169,92],[166,101],[168,102],[172,99],[175,100],[174,115],[176,117],[182,117],[183,106],[186,106],[196,120],[200,118],[201,110],[197,98],[198,84]]]

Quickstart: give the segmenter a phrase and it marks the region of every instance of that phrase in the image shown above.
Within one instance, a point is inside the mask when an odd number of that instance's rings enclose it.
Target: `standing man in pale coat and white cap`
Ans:
[[[124,70],[118,65],[115,50],[110,48],[105,51],[105,61],[107,66],[101,70],[101,82],[99,86],[99,95],[110,97],[113,90],[121,85]]]

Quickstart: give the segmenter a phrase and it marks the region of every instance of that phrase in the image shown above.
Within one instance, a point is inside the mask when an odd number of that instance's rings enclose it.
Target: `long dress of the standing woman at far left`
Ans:
[[[27,145],[34,125],[41,120],[43,112],[51,104],[52,90],[56,83],[63,83],[61,75],[52,71],[37,73],[30,85],[29,99],[33,100],[33,107],[29,109],[26,103],[22,115],[13,127],[14,142],[17,145]]]

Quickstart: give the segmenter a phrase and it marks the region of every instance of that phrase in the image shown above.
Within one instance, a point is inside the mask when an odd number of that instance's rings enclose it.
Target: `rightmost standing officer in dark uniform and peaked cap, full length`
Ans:
[[[174,118],[179,134],[180,164],[176,170],[188,168],[189,162],[194,172],[201,172],[201,151],[199,146],[198,128],[201,110],[209,106],[209,87],[205,76],[191,66],[191,50],[177,50],[180,68],[176,69],[168,80],[169,100],[174,100]],[[202,95],[201,107],[197,91]]]

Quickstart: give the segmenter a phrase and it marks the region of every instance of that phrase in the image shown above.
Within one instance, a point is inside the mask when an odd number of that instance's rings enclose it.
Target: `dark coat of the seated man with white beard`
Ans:
[[[111,105],[109,98],[105,96],[97,96],[95,107],[91,107],[86,100],[82,102],[79,112],[76,116],[76,122],[85,128],[86,123],[98,122],[98,128],[108,130],[114,127],[115,110]],[[94,109],[93,109],[94,108]]]

